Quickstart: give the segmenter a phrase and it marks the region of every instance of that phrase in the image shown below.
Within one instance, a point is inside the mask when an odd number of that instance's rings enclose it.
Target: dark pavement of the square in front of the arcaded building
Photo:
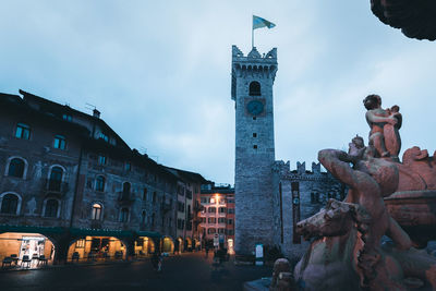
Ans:
[[[242,290],[244,281],[271,276],[270,266],[235,266],[233,258],[215,268],[211,255],[166,257],[157,274],[149,259],[95,266],[60,266],[0,272],[0,290]]]

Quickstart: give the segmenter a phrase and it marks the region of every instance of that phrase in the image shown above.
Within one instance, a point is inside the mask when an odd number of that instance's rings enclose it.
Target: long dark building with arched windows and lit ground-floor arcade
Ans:
[[[126,258],[192,239],[178,231],[178,185],[203,177],[131,149],[97,110],[20,93],[0,94],[0,258]]]

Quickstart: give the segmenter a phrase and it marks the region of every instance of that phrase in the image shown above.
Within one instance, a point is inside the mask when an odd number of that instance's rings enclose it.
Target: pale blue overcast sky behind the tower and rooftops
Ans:
[[[101,118],[159,163],[234,182],[231,46],[278,49],[276,159],[346,149],[368,126],[362,99],[400,106],[402,150],[433,155],[435,43],[380,23],[370,0],[1,1],[0,92],[69,104]]]

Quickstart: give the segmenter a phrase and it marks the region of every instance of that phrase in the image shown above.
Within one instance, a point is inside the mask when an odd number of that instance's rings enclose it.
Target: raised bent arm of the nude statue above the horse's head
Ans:
[[[350,167],[352,157],[346,151],[323,149],[318,151],[318,160],[339,181],[351,187],[356,186],[358,177],[355,171]]]

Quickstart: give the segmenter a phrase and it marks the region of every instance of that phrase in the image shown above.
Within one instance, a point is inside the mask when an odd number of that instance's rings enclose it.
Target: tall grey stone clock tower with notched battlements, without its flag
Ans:
[[[275,162],[272,84],[277,49],[253,48],[244,57],[232,47],[231,98],[235,102],[235,252],[249,255],[256,243],[274,244]]]

